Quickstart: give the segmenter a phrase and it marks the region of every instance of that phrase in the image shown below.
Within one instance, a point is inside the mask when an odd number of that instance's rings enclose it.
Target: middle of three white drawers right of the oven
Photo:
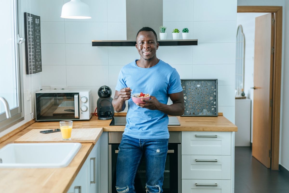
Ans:
[[[231,179],[230,155],[182,155],[182,179]]]

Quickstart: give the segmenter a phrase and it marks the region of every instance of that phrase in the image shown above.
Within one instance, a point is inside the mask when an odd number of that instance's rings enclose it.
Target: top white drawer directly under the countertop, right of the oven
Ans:
[[[231,155],[231,132],[182,131],[182,155]]]

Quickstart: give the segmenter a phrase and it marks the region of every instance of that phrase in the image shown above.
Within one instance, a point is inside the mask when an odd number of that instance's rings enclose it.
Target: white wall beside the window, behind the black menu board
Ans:
[[[18,6],[20,7],[21,13],[18,13],[21,16],[21,19],[18,21],[20,23],[19,25],[19,35],[20,37],[24,37],[24,12],[28,12],[35,15],[40,15],[39,10],[39,0],[20,0]],[[26,75],[26,67],[25,67],[25,43],[21,44],[19,47],[23,51],[22,55],[22,64],[23,64],[23,103],[24,103],[24,120],[17,123],[16,125],[13,125],[12,127],[2,131],[0,133],[0,137],[5,135],[6,133],[9,133],[10,131],[16,129],[17,127],[23,125],[27,121],[31,120],[30,115],[30,104],[32,106],[32,100],[27,101],[27,92],[31,90],[31,93],[38,91],[38,88],[42,86],[41,77],[42,73],[36,73],[34,75],[30,75],[30,82],[29,82],[29,75]],[[30,85],[30,86],[29,86]],[[35,94],[34,94],[35,95]],[[34,97],[35,98],[35,97]],[[34,100],[34,106],[35,106],[35,100]],[[33,109],[31,109],[31,112],[33,112]],[[35,113],[34,113],[35,117]]]

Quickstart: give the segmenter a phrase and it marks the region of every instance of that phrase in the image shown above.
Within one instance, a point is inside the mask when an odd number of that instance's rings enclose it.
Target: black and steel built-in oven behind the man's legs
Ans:
[[[162,189],[164,193],[181,193],[181,132],[170,131],[168,140],[168,153],[166,156],[164,181]],[[123,132],[108,132],[108,192],[116,191],[116,161],[118,146]],[[134,188],[136,193],[146,193],[146,164],[142,159],[138,167]]]

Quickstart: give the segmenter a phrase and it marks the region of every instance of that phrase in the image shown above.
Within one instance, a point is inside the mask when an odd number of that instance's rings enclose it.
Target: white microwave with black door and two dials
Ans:
[[[89,120],[91,90],[40,90],[35,93],[36,120]]]

